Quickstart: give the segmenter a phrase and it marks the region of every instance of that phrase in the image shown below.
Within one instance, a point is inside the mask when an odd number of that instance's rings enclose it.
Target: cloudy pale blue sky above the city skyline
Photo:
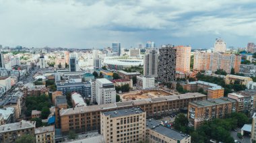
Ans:
[[[256,42],[255,0],[0,0],[3,46],[211,48]]]

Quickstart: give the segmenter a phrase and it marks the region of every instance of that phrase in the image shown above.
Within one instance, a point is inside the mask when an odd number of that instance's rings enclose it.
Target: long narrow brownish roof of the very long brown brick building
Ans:
[[[75,107],[75,108],[61,110],[60,115],[61,116],[72,115],[77,113],[86,113],[90,111],[100,111],[102,109],[115,109],[117,107],[131,107],[132,105],[158,103],[163,101],[174,101],[177,99],[191,99],[195,97],[206,97],[206,95],[203,95],[201,93],[185,93],[181,95],[170,95],[170,96],[164,96],[164,97],[138,99],[133,101],[123,101],[123,102],[117,102],[117,103],[107,103],[102,105],[92,105],[88,107]]]

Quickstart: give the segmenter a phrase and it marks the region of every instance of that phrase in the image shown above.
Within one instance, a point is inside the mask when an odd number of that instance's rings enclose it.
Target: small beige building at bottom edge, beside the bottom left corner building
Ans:
[[[55,143],[55,127],[46,126],[36,128],[36,143]]]

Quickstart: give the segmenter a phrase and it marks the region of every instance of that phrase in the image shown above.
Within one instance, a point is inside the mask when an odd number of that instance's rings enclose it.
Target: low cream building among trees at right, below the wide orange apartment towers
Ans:
[[[243,77],[238,75],[226,75],[225,83],[227,85],[234,84],[235,81],[238,81],[240,85],[247,85],[249,81],[253,81],[251,77]]]

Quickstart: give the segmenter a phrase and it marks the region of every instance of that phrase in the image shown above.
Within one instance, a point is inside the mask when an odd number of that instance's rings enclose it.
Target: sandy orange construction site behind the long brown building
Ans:
[[[130,101],[136,99],[146,99],[146,98],[155,98],[161,96],[174,95],[174,93],[170,93],[168,91],[164,91],[163,89],[154,89],[154,90],[138,90],[129,93],[124,93],[120,95],[122,101]]]

